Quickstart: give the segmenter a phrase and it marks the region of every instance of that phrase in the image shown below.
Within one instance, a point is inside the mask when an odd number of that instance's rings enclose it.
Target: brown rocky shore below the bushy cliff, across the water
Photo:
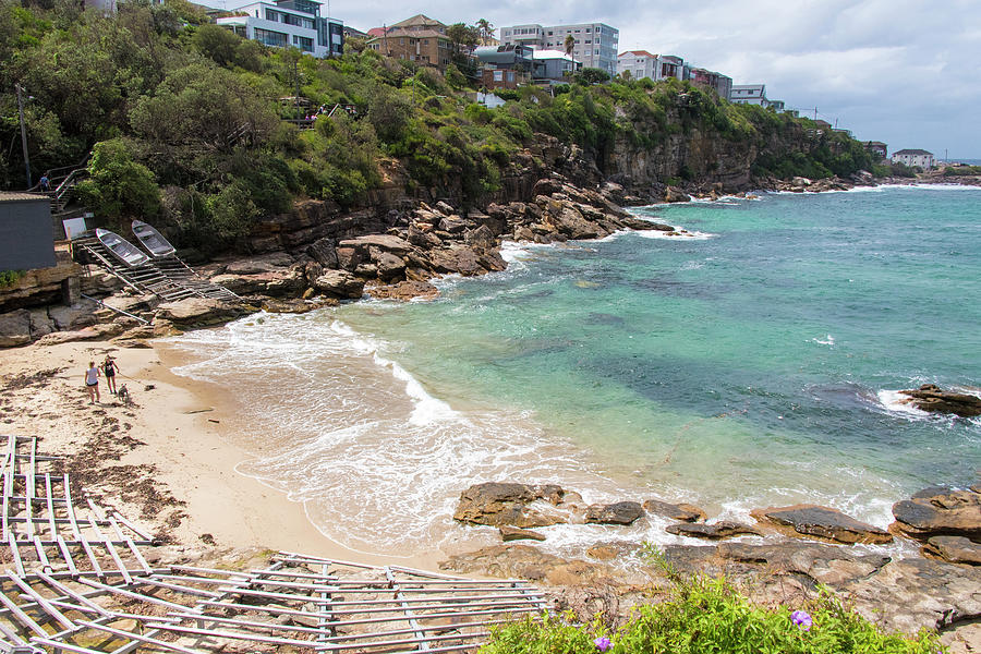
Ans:
[[[541,149],[530,152],[526,158],[553,157],[569,164],[565,174],[538,178],[530,166],[512,180],[509,185],[516,187],[506,195],[531,197],[530,202],[492,203],[482,210],[461,211],[446,202],[408,198],[396,190],[399,180],[392,179],[392,187],[375,198],[374,209],[344,214],[324,202],[300,201],[289,214],[264,219],[250,239],[249,247],[256,254],[195,266],[215,283],[242,295],[245,304],[204,299],[161,303],[153,295],[133,294],[108,272],[90,266],[83,269],[66,251],[59,252],[56,268],[31,271],[0,289],[0,348],[94,339],[146,347],[147,338],[214,326],[262,310],[304,313],[365,294],[396,300],[432,298],[437,293],[429,282],[433,278],[502,270],[506,263],[500,245],[506,240],[561,243],[602,239],[621,230],[691,237],[685,229],[642,220],[622,207],[752,195],[719,182],[685,187],[652,184],[640,192],[628,179],[621,180],[622,185],[596,182],[595,171],[581,170],[585,165],[574,147]],[[756,180],[755,186],[811,193],[918,181],[936,180],[874,179],[860,172],[849,180],[764,179]],[[100,299],[104,306],[87,300],[75,306],[57,304],[61,283],[69,277],[77,278],[82,293]],[[38,306],[39,301],[47,306]]]

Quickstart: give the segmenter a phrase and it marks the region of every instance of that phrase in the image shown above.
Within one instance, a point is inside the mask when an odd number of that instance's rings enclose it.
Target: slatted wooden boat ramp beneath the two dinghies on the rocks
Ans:
[[[126,266],[94,233],[78,237],[72,241],[72,246],[76,261],[99,266],[138,293],[153,293],[167,302],[186,298],[242,300],[225,287],[198,276],[174,255],[149,259],[137,266]]]

